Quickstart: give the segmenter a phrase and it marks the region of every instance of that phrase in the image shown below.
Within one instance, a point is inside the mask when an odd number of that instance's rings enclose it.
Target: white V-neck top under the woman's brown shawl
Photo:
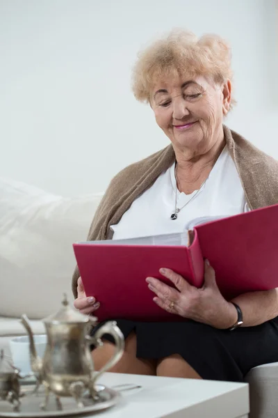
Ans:
[[[117,225],[111,226],[113,239],[179,233],[197,217],[231,216],[247,212],[243,187],[227,146],[215,162],[206,183],[199,192],[177,191],[177,207],[182,208],[177,219],[170,219],[175,207],[176,178],[174,164],[161,173],[154,185],[133,201]]]

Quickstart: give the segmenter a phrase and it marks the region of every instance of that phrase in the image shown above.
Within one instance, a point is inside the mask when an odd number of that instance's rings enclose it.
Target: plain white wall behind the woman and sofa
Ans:
[[[138,49],[174,26],[230,40],[227,123],[278,158],[275,0],[0,0],[0,176],[99,192],[165,146],[130,73]]]

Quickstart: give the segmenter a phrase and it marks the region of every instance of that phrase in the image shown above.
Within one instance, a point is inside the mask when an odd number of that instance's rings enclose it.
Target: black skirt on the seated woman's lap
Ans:
[[[256,327],[218,330],[192,320],[143,323],[116,320],[124,338],[137,336],[136,357],[161,359],[179,354],[203,379],[243,382],[260,364],[278,362],[278,317]],[[97,325],[92,335],[101,327]],[[105,339],[113,342],[111,336]]]

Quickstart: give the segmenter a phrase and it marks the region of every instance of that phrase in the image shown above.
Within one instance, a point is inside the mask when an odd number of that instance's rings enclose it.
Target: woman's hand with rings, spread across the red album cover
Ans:
[[[175,288],[154,277],[147,277],[146,281],[149,289],[156,293],[154,302],[165,311],[215,328],[229,328],[238,318],[236,308],[221,295],[208,261],[205,261],[204,269],[204,286],[199,289],[168,268],[159,271]]]

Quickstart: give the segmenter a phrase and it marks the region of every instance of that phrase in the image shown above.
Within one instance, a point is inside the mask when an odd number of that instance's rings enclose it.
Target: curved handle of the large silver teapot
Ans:
[[[111,369],[111,367],[115,366],[115,364],[117,364],[117,362],[124,354],[124,335],[122,334],[120,328],[117,326],[115,320],[109,320],[104,325],[102,325],[102,327],[100,327],[99,330],[95,332],[94,336],[88,337],[88,342],[94,344],[97,347],[102,346],[103,343],[101,341],[101,337],[104,336],[104,334],[110,334],[113,336],[113,339],[115,340],[115,353],[99,371],[94,373],[94,378],[92,381],[93,385],[95,385],[96,380],[99,379],[102,374],[104,374],[108,369]]]

